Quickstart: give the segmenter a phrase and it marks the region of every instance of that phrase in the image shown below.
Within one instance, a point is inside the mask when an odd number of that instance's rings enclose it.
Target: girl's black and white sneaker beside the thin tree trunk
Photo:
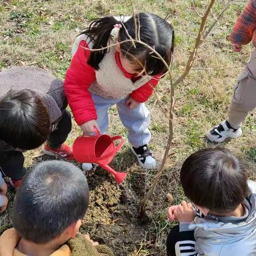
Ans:
[[[150,152],[148,145],[139,148],[131,147],[132,153],[137,157],[139,164],[145,169],[154,169],[156,167],[156,159]]]

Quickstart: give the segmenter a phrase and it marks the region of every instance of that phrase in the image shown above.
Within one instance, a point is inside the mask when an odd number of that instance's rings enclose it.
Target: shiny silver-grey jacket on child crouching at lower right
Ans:
[[[195,218],[189,224],[194,229],[195,250],[205,256],[256,255],[256,182],[248,181],[249,195],[243,202],[245,218]],[[239,220],[241,219],[241,220]]]

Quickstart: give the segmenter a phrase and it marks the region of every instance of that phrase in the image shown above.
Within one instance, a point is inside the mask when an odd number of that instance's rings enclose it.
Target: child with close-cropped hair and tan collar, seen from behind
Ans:
[[[38,164],[18,190],[14,228],[0,237],[0,255],[114,255],[108,247],[77,236],[88,203],[86,178],[75,165]]]

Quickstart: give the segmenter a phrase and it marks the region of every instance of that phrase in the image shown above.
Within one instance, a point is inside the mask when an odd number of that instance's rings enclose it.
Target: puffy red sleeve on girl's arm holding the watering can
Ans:
[[[78,125],[97,119],[92,95],[88,91],[95,81],[95,70],[87,64],[90,51],[83,47],[87,47],[85,41],[79,44],[64,81],[64,91]]]

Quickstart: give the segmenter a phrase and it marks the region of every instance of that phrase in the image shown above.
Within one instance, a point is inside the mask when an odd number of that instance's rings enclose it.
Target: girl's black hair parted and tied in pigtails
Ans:
[[[158,17],[153,13],[139,13],[135,15],[137,27],[139,27],[139,36],[143,43],[153,47],[170,65],[172,60],[173,46],[174,46],[174,30],[173,27],[164,19]],[[93,42],[92,49],[100,49],[108,45],[111,39],[111,30],[115,24],[121,24],[113,16],[97,19],[91,23],[89,28],[86,28],[82,34],[89,36]],[[134,17],[123,23],[124,26],[119,30],[119,42],[125,41],[129,35],[135,39],[135,25]],[[125,30],[125,28],[126,30]],[[129,35],[128,35],[128,34]],[[91,52],[88,64],[99,69],[99,63],[103,59],[108,49],[103,51]],[[141,65],[145,67],[145,72],[148,75],[154,76],[164,73],[167,69],[163,62],[145,45],[132,42],[124,42],[121,44],[121,52],[130,60],[139,60]],[[140,68],[142,69],[142,67]]]

